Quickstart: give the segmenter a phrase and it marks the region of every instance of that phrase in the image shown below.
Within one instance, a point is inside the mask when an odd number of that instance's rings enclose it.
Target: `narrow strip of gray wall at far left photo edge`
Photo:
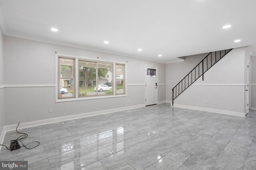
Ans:
[[[0,134],[4,128],[4,88],[1,86],[4,84],[4,36],[0,27]]]

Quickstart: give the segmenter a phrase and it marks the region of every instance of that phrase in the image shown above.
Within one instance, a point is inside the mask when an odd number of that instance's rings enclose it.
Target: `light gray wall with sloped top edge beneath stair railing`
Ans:
[[[174,100],[174,106],[207,108],[204,110],[244,116],[244,64],[245,48],[233,49],[204,74],[204,81],[199,78],[178,96]],[[166,70],[172,65],[168,64]],[[180,70],[176,71],[180,72]]]

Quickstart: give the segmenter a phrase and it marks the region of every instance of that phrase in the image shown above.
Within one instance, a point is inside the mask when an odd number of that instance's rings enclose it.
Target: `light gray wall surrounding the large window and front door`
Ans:
[[[145,83],[145,65],[158,66],[159,83],[166,83],[166,64],[131,57],[65,47],[16,37],[4,37],[5,84],[55,84],[55,51],[60,54],[128,61],[127,83]],[[55,87],[5,88],[6,125],[66,115],[145,104],[144,86],[128,86],[127,97],[55,102]],[[166,100],[165,85],[158,86],[158,101]],[[128,99],[130,102],[128,103]],[[48,113],[48,108],[53,113]]]

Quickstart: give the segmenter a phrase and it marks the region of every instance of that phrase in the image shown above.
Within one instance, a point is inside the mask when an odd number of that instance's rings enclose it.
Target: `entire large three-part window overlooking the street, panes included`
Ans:
[[[62,99],[86,100],[126,94],[125,64],[64,55],[58,56],[57,59],[56,102],[64,101]],[[114,75],[116,83],[112,84]]]

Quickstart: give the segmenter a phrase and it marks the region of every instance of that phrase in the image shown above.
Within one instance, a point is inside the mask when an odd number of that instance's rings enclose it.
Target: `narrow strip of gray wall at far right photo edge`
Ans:
[[[251,57],[252,75],[251,75],[251,107],[256,108],[256,57]]]

